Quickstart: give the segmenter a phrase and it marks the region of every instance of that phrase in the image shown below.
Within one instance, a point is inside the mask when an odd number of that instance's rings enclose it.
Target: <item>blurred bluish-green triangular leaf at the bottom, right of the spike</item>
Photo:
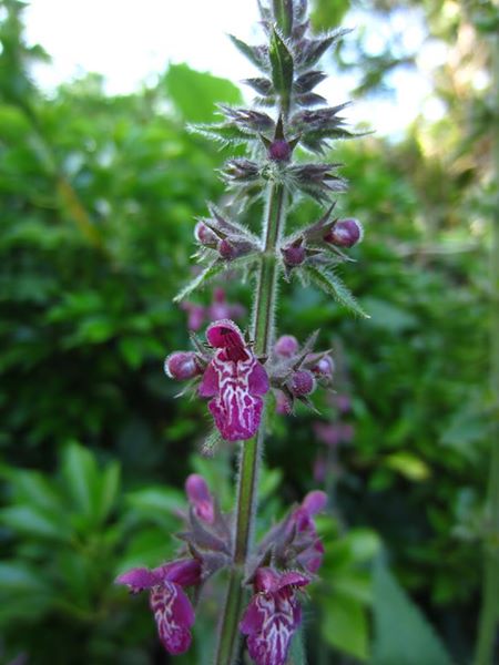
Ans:
[[[441,640],[385,564],[374,572],[373,665],[450,665]]]

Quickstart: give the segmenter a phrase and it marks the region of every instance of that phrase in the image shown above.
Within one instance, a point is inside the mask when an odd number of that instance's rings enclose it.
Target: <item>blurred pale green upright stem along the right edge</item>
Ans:
[[[495,90],[492,102],[499,109],[499,38],[492,38]],[[492,206],[492,244],[490,254],[491,286],[491,364],[490,392],[492,400],[492,431],[489,484],[486,505],[486,541],[483,552],[483,583],[475,665],[491,665],[499,622],[499,133],[493,136],[493,167],[496,175],[496,205]]]

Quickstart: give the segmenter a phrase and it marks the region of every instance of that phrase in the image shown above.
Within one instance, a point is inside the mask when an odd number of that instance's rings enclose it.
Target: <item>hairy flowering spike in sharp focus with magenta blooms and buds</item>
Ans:
[[[118,579],[132,592],[150,591],[160,638],[176,654],[189,648],[194,622],[185,589],[198,590],[213,574],[228,569],[217,665],[235,663],[240,635],[246,636],[257,665],[285,665],[301,623],[303,590],[313,584],[324,555],[314,522],[326,508],[327,497],[320,491],[307,494],[259,543],[253,542],[268,396],[275,397],[278,411],[291,415],[296,400],[313,407],[312,393],[318,386],[329,388],[334,378],[330,351],[315,349],[316,332],[303,344],[293,335],[274,339],[278,280],[314,283],[364,315],[336,273],[339,264],[352,260],[347,250],[363,235],[356,219],[333,215],[332,197],[346,190],[339,164],[304,161],[301,153],[323,155],[335,139],[352,136],[340,115],[346,104],[329,108],[314,92],[325,79],[316,68],[320,57],[346,31],[312,35],[306,0],[262,1],[259,10],[265,43],[248,45],[232,38],[261,72],[246,80],[257,94],[254,108],[224,105],[220,123],[193,127],[223,144],[245,144],[249,154],[226,162],[222,175],[230,206],[222,211],[210,204],[210,214],[197,221],[194,238],[202,269],[176,297],[183,300],[225,270],[244,272],[255,285],[252,326],[242,330],[227,313],[210,323],[206,344],[193,337],[193,350],[174,351],[165,360],[170,378],[187,381],[184,392],[208,400],[215,434],[211,440],[240,442],[235,509],[233,514],[222,513],[204,479],[191,475],[180,557]],[[312,197],[326,209],[318,221],[286,235],[289,206],[302,197]],[[258,202],[264,204],[259,234],[244,217],[245,209]],[[198,329],[205,311],[184,307],[191,328]]]

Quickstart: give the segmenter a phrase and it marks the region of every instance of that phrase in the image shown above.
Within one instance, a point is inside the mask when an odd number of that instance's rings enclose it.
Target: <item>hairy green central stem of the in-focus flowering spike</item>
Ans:
[[[255,354],[268,356],[273,342],[274,315],[277,296],[278,266],[275,258],[277,243],[285,221],[285,193],[281,184],[268,186],[265,215],[265,244],[261,258],[257,288],[254,303],[253,335]],[[238,623],[245,592],[243,582],[247,555],[254,531],[257,502],[259,460],[265,439],[265,412],[259,430],[253,439],[241,443],[240,473],[237,481],[236,525],[234,541],[234,564],[225,596],[221,621],[215,665],[231,665],[235,662]]]

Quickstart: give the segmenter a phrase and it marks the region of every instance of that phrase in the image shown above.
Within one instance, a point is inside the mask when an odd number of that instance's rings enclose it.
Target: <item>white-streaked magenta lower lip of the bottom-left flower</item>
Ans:
[[[169,654],[183,654],[191,646],[194,610],[182,587],[165,582],[151,591],[151,610],[160,640]]]

